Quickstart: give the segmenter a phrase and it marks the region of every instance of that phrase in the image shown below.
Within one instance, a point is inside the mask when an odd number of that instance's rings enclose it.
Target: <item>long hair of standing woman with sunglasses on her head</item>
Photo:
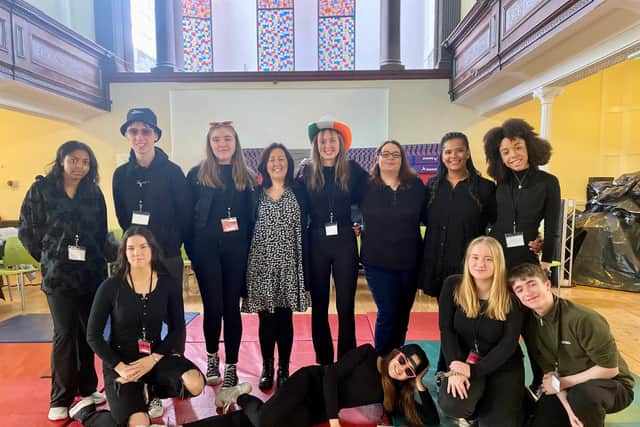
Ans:
[[[236,148],[233,152],[233,156],[231,156],[231,170],[233,173],[233,182],[235,184],[236,190],[244,191],[247,187],[254,189],[256,187],[256,178],[251,170],[247,167],[244,155],[242,154],[242,147],[240,146],[238,133],[232,125],[213,125],[209,127],[205,142],[206,157],[202,161],[202,163],[200,163],[200,170],[198,171],[198,181],[200,181],[201,184],[207,187],[224,187],[224,182],[222,181],[222,173],[220,172],[220,164],[218,164],[218,159],[216,159],[215,154],[213,154],[210,142],[211,133],[214,130],[220,128],[231,129],[231,132],[233,132],[233,137],[236,141]]]

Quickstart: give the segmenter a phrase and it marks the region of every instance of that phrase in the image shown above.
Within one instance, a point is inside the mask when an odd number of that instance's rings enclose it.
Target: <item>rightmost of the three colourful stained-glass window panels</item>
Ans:
[[[356,67],[356,1],[318,0],[318,70]]]

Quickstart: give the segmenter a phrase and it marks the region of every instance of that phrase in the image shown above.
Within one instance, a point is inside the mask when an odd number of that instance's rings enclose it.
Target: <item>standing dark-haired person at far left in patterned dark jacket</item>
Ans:
[[[20,210],[19,237],[42,263],[42,290],[53,319],[52,421],[67,418],[78,394],[104,402],[104,395],[96,393],[94,355],[86,340],[93,296],[106,277],[107,209],[98,180],[91,148],[65,142]]]

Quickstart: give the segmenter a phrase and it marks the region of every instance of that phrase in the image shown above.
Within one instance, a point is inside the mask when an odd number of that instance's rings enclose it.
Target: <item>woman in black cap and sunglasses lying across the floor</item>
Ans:
[[[334,365],[298,370],[264,403],[242,394],[248,388],[239,384],[234,399],[242,411],[184,427],[309,427],[327,420],[339,427],[340,409],[372,403],[381,403],[387,414],[404,416],[410,427],[438,425],[438,411],[422,383],[428,369],[429,360],[417,344],[394,349],[384,358],[365,344]],[[421,404],[415,401],[416,389]]]

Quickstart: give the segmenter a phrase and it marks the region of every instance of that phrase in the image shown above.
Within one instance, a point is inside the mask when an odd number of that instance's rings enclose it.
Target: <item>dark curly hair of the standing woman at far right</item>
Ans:
[[[484,154],[488,164],[487,173],[498,184],[505,181],[508,171],[500,156],[500,144],[505,138],[510,140],[522,138],[524,140],[529,157],[529,166],[533,169],[546,165],[551,158],[551,144],[546,139],[540,138],[534,132],[533,126],[523,119],[509,119],[502,126],[489,130],[483,138]]]

